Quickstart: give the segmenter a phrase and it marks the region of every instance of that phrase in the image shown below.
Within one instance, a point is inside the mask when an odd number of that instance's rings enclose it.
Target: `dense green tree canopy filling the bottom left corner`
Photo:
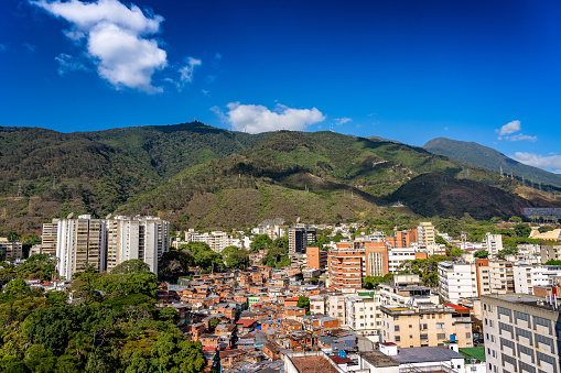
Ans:
[[[31,262],[25,273],[39,262],[45,266],[36,273],[51,271],[44,256]],[[183,336],[173,309],[155,309],[157,290],[155,275],[140,261],[76,274],[72,305],[63,292],[42,294],[12,279],[0,298],[0,370],[202,372],[201,343]]]

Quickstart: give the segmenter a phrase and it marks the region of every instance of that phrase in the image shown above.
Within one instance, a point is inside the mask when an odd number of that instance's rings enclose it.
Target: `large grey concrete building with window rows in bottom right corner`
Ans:
[[[561,312],[527,294],[484,295],[487,372],[559,373]]]

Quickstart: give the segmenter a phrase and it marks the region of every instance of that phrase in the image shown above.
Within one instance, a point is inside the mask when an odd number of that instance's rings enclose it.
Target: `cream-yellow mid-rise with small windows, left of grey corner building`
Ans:
[[[470,309],[455,305],[419,303],[409,306],[380,306],[382,341],[398,348],[443,347],[446,341],[460,348],[472,347]]]

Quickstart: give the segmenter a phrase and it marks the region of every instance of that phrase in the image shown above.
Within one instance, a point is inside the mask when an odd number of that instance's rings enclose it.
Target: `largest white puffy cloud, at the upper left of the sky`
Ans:
[[[118,0],[29,1],[68,22],[69,29],[64,34],[85,47],[99,76],[114,87],[152,94],[162,91],[152,84],[152,75],[168,66],[166,53],[154,40],[161,31],[163,17],[142,11],[134,4],[127,7]],[[192,79],[192,70],[185,73],[185,77]]]

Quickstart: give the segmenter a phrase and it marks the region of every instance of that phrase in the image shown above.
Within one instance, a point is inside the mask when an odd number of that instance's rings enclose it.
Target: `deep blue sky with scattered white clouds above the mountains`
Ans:
[[[0,2],[0,125],[197,120],[413,145],[561,173],[559,1]]]

